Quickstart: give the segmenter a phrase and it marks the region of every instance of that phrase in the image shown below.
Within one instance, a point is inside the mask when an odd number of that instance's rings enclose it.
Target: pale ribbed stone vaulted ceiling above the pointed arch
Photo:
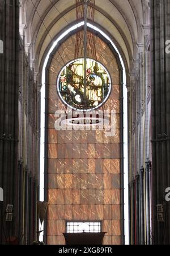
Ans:
[[[148,0],[96,0],[95,24],[108,33],[124,54],[130,70],[149,26]],[[53,39],[76,22],[75,0],[20,0],[20,27],[38,71]]]

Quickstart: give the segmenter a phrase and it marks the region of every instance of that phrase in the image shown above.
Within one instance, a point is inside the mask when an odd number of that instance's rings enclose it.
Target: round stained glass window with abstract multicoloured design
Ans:
[[[99,62],[87,58],[74,60],[64,66],[57,79],[59,98],[75,110],[94,110],[101,107],[111,93],[111,77]],[[86,73],[86,80],[84,74]]]

